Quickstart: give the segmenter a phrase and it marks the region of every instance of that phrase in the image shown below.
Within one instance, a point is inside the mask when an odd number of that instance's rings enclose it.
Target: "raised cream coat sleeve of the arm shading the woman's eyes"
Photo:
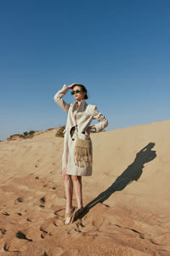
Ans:
[[[63,96],[65,96],[68,90],[68,86],[64,84],[63,87],[54,95],[54,102],[57,103],[60,108],[63,108],[66,113],[69,111],[70,104],[63,100]]]

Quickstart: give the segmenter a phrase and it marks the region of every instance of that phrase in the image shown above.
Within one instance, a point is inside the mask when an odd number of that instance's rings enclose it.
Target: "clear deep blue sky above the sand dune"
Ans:
[[[65,125],[63,84],[87,87],[106,130],[169,119],[169,13],[168,0],[0,1],[0,140]]]

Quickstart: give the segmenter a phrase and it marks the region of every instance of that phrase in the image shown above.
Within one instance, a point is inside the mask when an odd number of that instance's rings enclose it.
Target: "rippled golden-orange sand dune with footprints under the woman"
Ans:
[[[56,129],[0,143],[0,255],[170,255],[169,131],[167,120],[92,134],[86,211],[69,226]]]

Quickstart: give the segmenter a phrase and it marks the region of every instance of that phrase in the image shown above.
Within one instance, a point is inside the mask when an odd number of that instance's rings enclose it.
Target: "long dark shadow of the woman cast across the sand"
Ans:
[[[127,167],[127,169],[122,172],[122,174],[116,178],[116,181],[111,184],[111,186],[100,193],[93,201],[90,201],[86,207],[84,207],[84,212],[79,216],[79,218],[84,217],[91,208],[93,208],[98,203],[103,203],[107,200],[114,192],[120,191],[126,188],[129,183],[134,180],[137,181],[142,175],[144,164],[154,160],[156,158],[156,151],[151,150],[155,146],[155,143],[149,143],[147,146],[142,148],[133,163]]]

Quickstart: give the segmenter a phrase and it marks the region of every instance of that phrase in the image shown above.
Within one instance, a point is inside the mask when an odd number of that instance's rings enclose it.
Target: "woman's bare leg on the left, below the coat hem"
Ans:
[[[65,171],[62,172],[62,177],[65,183],[65,196],[66,196],[65,212],[71,212],[73,183],[72,183],[71,175],[66,174],[66,168],[65,168]],[[71,222],[71,218],[65,219],[65,224],[69,224],[70,222]]]

